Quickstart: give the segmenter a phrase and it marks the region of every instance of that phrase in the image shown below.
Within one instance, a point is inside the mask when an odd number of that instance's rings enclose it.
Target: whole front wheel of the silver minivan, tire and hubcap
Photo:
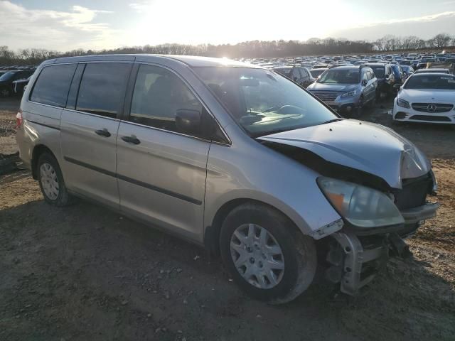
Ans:
[[[250,296],[287,303],[303,293],[316,272],[316,247],[284,215],[247,203],[221,227],[220,251],[230,275]]]

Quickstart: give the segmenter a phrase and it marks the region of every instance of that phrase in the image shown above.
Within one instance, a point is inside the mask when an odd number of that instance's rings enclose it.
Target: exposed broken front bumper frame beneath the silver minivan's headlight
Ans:
[[[414,234],[420,224],[436,215],[437,202],[428,202],[420,207],[403,210],[403,229],[380,234],[359,235],[342,229],[331,234],[334,241],[329,245],[326,261],[326,278],[340,283],[340,290],[355,295],[359,289],[375,278],[391,256],[405,256],[409,249],[404,240]],[[411,227],[411,228],[410,228]]]

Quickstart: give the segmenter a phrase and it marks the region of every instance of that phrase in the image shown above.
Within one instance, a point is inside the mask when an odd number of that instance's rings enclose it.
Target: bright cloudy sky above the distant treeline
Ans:
[[[14,50],[437,33],[455,36],[455,0],[0,0],[0,45]]]

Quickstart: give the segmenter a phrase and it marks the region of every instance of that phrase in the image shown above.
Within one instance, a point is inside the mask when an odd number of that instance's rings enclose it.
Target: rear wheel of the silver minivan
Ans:
[[[66,189],[62,171],[57,160],[50,153],[43,153],[38,158],[38,182],[44,200],[50,205],[62,207],[70,204],[71,197]]]

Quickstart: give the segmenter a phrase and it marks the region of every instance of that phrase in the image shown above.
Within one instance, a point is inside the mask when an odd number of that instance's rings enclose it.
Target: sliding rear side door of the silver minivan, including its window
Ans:
[[[78,65],[60,122],[68,189],[117,208],[116,137],[131,69],[132,63]]]

